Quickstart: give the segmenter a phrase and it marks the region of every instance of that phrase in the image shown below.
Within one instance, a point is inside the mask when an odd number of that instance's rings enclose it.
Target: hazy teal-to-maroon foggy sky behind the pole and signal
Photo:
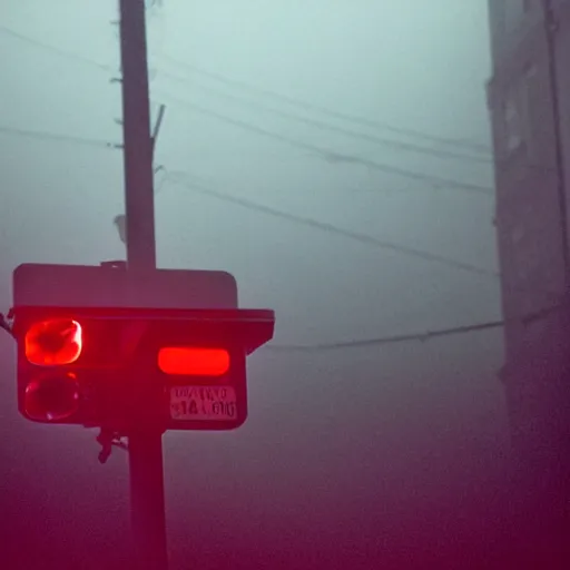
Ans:
[[[242,306],[277,316],[246,424],[165,438],[173,569],[500,563],[501,330],[293,350],[500,318],[484,4],[149,9],[159,266],[228,271]],[[106,146],[121,142],[116,2],[0,16],[7,309],[20,263],[124,258],[124,190]],[[26,422],[8,335],[0,351],[2,568],[128,566],[126,455],[100,465],[94,431]]]

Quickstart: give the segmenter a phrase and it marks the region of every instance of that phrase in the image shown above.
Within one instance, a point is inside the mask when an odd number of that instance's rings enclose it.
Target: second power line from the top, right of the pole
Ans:
[[[281,109],[276,109],[275,107],[263,105],[263,104],[259,104],[257,101],[247,100],[247,99],[244,99],[243,97],[237,96],[237,95],[218,91],[217,89],[212,89],[209,87],[205,87],[203,85],[198,85],[198,83],[191,81],[189,78],[180,77],[180,76],[177,76],[177,75],[171,73],[169,71],[161,70],[160,72],[164,76],[169,77],[169,78],[171,78],[171,79],[174,79],[176,81],[180,81],[183,83],[190,83],[191,82],[193,89],[197,89],[197,90],[206,92],[206,94],[215,95],[216,97],[220,97],[220,98],[224,98],[224,99],[229,99],[229,100],[233,100],[233,101],[237,101],[239,105],[243,105],[245,107],[249,107],[249,108],[253,108],[253,109],[261,109],[263,111],[276,115],[277,117],[282,117],[282,118],[285,118],[285,119],[289,119],[289,120],[295,120],[297,122],[304,122],[306,125],[311,125],[311,126],[316,127],[318,129],[330,130],[332,132],[338,132],[340,135],[345,135],[345,136],[357,138],[357,139],[361,139],[361,140],[366,140],[368,142],[373,142],[375,145],[381,145],[381,146],[384,146],[384,147],[391,147],[391,148],[395,148],[395,149],[404,150],[404,151],[409,151],[409,153],[417,153],[417,154],[423,154],[423,155],[430,155],[430,156],[434,156],[434,157],[438,157],[438,158],[453,158],[453,159],[459,159],[459,160],[465,160],[468,163],[480,163],[480,164],[488,164],[488,165],[492,165],[493,164],[493,158],[490,157],[490,156],[489,157],[484,157],[484,156],[476,156],[476,157],[475,156],[468,156],[468,155],[463,155],[463,154],[460,154],[460,153],[454,153],[452,150],[442,150],[442,149],[425,147],[425,146],[421,146],[421,145],[415,145],[413,142],[404,142],[404,141],[396,140],[396,139],[393,139],[393,138],[383,138],[383,137],[379,137],[379,136],[375,136],[375,135],[370,135],[367,132],[363,132],[363,131],[358,131],[358,130],[352,130],[352,129],[344,128],[344,127],[338,127],[336,125],[333,125],[331,122],[326,122],[326,121],[323,121],[323,120],[320,120],[320,119],[313,119],[313,118],[309,118],[309,117],[304,117],[304,116],[301,116],[301,115],[297,115],[297,114],[294,114],[294,112],[283,111]]]

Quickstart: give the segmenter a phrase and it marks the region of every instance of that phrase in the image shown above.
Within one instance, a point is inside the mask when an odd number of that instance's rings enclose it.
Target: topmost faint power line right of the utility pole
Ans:
[[[490,149],[487,146],[480,145],[478,142],[472,142],[472,141],[464,140],[464,139],[440,137],[440,136],[430,135],[430,134],[426,134],[426,132],[423,132],[423,131],[420,131],[420,130],[415,130],[415,129],[407,129],[407,128],[396,127],[396,126],[391,125],[389,122],[372,120],[372,119],[368,119],[368,118],[358,117],[358,116],[350,115],[350,114],[346,114],[346,112],[341,112],[341,111],[328,109],[326,107],[323,107],[323,106],[320,106],[320,105],[315,105],[315,104],[311,104],[308,101],[304,101],[304,100],[301,100],[301,99],[297,99],[297,98],[294,98],[294,97],[285,96],[285,95],[278,94],[276,91],[273,91],[271,89],[265,89],[265,88],[262,88],[262,87],[256,87],[256,86],[253,86],[253,85],[247,83],[245,81],[239,81],[237,79],[228,78],[228,77],[226,77],[226,76],[224,76],[222,73],[216,73],[214,71],[209,71],[209,70],[207,70],[207,69],[205,69],[203,67],[199,67],[199,66],[196,66],[196,65],[186,63],[185,61],[180,61],[179,59],[173,58],[171,56],[168,56],[168,55],[163,55],[161,57],[165,60],[171,61],[176,66],[186,68],[186,69],[188,69],[190,71],[194,71],[196,73],[203,75],[205,77],[210,77],[212,79],[215,79],[215,80],[220,81],[223,83],[226,83],[226,85],[229,85],[229,86],[233,86],[233,87],[238,87],[240,89],[245,89],[245,90],[248,90],[248,91],[262,94],[262,95],[265,95],[265,96],[268,96],[268,97],[273,97],[275,99],[279,99],[279,100],[282,100],[284,102],[287,102],[289,105],[294,105],[294,106],[304,108],[306,110],[312,110],[312,111],[317,111],[317,112],[321,112],[321,114],[324,114],[324,115],[328,115],[328,116],[334,117],[336,119],[354,122],[354,124],[357,124],[357,125],[361,125],[361,126],[364,126],[364,127],[368,127],[368,128],[387,130],[387,131],[392,131],[392,132],[395,132],[395,134],[399,134],[399,135],[404,135],[404,136],[407,136],[407,137],[420,138],[420,139],[429,140],[431,142],[434,142],[434,144],[439,144],[439,145],[452,146],[454,148],[456,148],[456,147],[464,147],[464,148],[469,148],[470,150],[472,150],[474,153],[478,153],[478,154],[485,154],[485,155],[490,154]]]

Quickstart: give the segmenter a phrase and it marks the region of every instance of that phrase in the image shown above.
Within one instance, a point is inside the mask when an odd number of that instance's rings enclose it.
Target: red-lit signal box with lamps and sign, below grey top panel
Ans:
[[[264,309],[16,306],[20,413],[117,432],[235,429],[246,356],[274,323]]]

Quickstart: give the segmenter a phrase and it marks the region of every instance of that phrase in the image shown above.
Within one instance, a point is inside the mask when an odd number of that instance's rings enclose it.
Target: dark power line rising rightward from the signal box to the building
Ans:
[[[509,318],[500,321],[489,321],[487,323],[478,323],[472,325],[455,326],[450,328],[440,328],[434,331],[425,331],[423,333],[407,333],[401,335],[380,336],[376,338],[364,338],[360,341],[343,341],[337,343],[322,343],[322,344],[276,344],[267,345],[266,350],[275,352],[323,352],[323,351],[335,351],[342,348],[365,348],[370,346],[384,346],[389,344],[400,344],[405,342],[428,342],[433,338],[441,338],[445,336],[456,336],[460,334],[476,333],[481,331],[489,331],[492,328],[502,328],[509,323],[523,323],[529,324],[531,322],[539,321],[547,317],[554,311],[558,311],[560,306],[549,307],[543,311],[539,311],[527,317]]]

